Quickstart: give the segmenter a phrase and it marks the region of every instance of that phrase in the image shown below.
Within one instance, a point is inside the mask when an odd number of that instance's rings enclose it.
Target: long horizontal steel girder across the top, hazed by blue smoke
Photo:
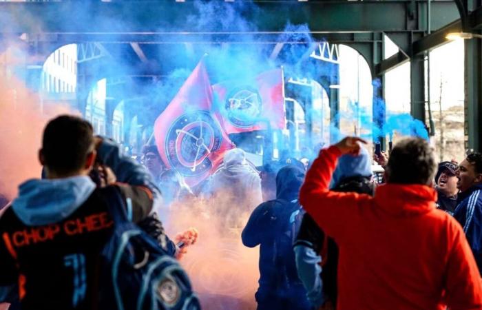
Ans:
[[[196,3],[171,1],[0,3],[0,32],[54,33],[85,39],[111,34],[272,34],[286,23],[307,24],[311,32],[423,31],[426,1],[253,1]],[[457,17],[452,1],[432,1],[432,29]],[[206,14],[239,14],[245,23],[202,23]],[[233,20],[235,21],[235,20]],[[117,34],[112,36],[112,34]],[[130,38],[129,38],[130,39]]]

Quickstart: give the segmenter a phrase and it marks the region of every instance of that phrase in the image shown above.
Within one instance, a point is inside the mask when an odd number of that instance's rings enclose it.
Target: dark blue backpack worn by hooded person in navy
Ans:
[[[275,240],[273,244],[273,262],[276,270],[276,283],[281,289],[300,285],[298,278],[293,243],[300,231],[305,213],[297,199],[286,201],[274,200]]]

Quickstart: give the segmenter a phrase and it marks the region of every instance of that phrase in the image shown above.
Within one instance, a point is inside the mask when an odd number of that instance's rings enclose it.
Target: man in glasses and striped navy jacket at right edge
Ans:
[[[460,193],[457,197],[458,205],[454,217],[463,227],[480,272],[482,270],[482,195],[480,195],[482,154],[469,154],[459,164],[456,176]]]

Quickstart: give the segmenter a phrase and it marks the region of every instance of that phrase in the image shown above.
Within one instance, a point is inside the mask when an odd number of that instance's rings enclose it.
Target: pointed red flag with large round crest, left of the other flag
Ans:
[[[233,143],[211,114],[213,93],[204,61],[154,123],[154,137],[163,162],[193,186],[209,176]]]

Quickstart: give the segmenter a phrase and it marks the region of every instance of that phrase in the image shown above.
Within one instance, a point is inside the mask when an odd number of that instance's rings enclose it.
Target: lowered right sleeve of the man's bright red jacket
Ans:
[[[457,223],[452,224],[455,237],[448,256],[446,301],[451,310],[482,309],[482,284],[472,250]]]

